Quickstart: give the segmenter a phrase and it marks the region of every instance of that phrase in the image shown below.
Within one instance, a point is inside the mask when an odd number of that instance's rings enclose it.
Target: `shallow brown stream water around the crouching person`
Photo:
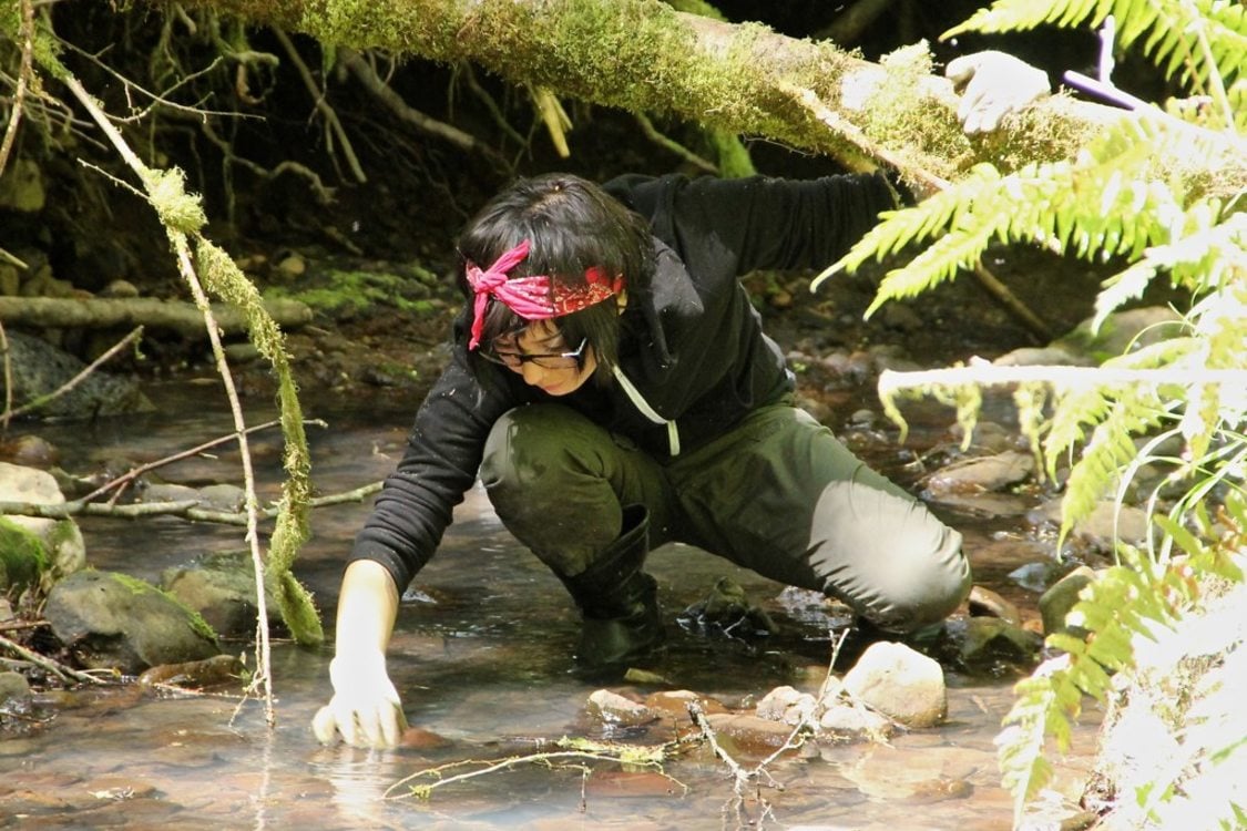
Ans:
[[[160,416],[37,432],[84,470],[105,457],[148,461],[231,430],[214,386],[155,391]],[[267,414],[251,407],[252,422]],[[330,493],[379,480],[402,450],[410,409],[355,402],[308,406],[313,480]],[[922,434],[917,435],[922,440]],[[262,488],[276,492],[279,450],[273,434],[253,439]],[[899,466],[902,449],[890,460]],[[884,466],[888,460],[882,460]],[[172,481],[238,481],[237,452],[181,462]],[[298,574],[332,625],[342,557],[368,511],[347,505],[317,511],[314,538]],[[1045,544],[1013,517],[949,516],[968,538],[978,582],[1034,614],[1035,596],[1006,574],[1045,558]],[[205,551],[242,547],[237,528],[177,518],[142,523],[85,520],[89,561],[150,579]],[[676,689],[736,706],[781,684],[814,691],[829,655],[827,622],[778,601],[781,589],[749,572],[687,547],[651,558],[671,625],[660,667]],[[784,630],[761,644],[683,632],[676,614],[718,577],[732,577]],[[550,750],[565,735],[658,744],[661,729],[610,730],[585,716],[597,685],[571,673],[577,622],[557,581],[518,546],[479,491],[456,512],[438,557],[416,578],[399,615],[389,659],[410,723],[440,746],[367,751],[320,746],[308,723],[329,698],[329,648],[278,643],[273,650],[277,725],[263,706],[237,696],[145,691],[136,685],[49,693],[25,735],[0,741],[2,827],[59,829],[1008,829],[1011,802],[1000,789],[993,739],[1011,703],[1009,674],[968,675],[949,668],[945,725],[902,734],[888,745],[824,744],[786,755],[764,786],[737,800],[727,765],[692,746],[653,771],[594,762],[550,769],[521,765],[433,792],[426,801],[392,785],[420,770],[460,760],[500,760]],[[249,644],[228,644],[251,652]],[[249,659],[249,655],[248,655]],[[628,690],[627,685],[612,689]],[[631,688],[645,694],[651,688]],[[1047,816],[1072,811],[1094,728],[1075,734],[1074,756],[1059,764]],[[744,767],[762,751],[727,750]],[[455,771],[459,772],[459,771]],[[1041,827],[1041,826],[1033,826]]]

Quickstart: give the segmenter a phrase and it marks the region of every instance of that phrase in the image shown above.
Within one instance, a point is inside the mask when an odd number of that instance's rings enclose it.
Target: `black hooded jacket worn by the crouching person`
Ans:
[[[555,399],[496,368],[498,382],[483,385],[456,328],[453,360],[416,412],[403,460],[352,552],[385,566],[400,592],[440,543],[476,478],[490,427],[508,410],[557,400],[666,458],[783,399],[793,375],[737,278],[826,267],[895,206],[879,176],[626,176],[605,188],[650,221],[657,253],[648,289],[628,289],[615,382],[590,381]]]

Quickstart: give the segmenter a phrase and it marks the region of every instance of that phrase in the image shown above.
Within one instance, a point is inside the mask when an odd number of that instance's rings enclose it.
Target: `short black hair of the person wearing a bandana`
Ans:
[[[529,240],[529,255],[510,279],[549,275],[576,288],[585,272],[600,268],[622,275],[630,294],[647,292],[653,272],[653,243],[645,219],[600,186],[570,173],[546,173],[518,181],[490,199],[459,237],[459,284],[466,295],[464,321],[471,324],[473,292],[464,270],[468,263],[489,268],[501,254]],[[619,306],[612,298],[554,320],[569,348],[581,339],[597,360],[595,380],[606,382],[619,361]],[[490,299],[485,308],[481,345],[524,329],[527,321],[504,303]],[[466,326],[465,326],[466,328]],[[479,374],[480,361],[473,361]]]

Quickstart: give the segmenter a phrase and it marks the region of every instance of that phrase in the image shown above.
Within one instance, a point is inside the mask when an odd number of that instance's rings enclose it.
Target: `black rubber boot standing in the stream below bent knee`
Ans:
[[[650,553],[650,518],[642,505],[624,508],[624,529],[584,573],[564,577],[584,628],[576,660],[589,672],[624,672],[666,639],[658,586],[641,571]]]

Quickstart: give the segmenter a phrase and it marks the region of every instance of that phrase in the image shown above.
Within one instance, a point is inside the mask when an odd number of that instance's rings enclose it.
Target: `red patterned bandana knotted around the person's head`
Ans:
[[[471,339],[468,341],[468,349],[476,349],[480,345],[485,308],[490,297],[525,320],[549,320],[601,303],[624,288],[624,278],[611,280],[606,277],[606,272],[597,267],[585,272],[585,285],[564,285],[545,274],[506,279],[511,269],[527,255],[529,240],[525,239],[494,260],[494,264],[484,272],[475,263],[468,263],[465,269],[468,285],[476,294],[473,302]]]

